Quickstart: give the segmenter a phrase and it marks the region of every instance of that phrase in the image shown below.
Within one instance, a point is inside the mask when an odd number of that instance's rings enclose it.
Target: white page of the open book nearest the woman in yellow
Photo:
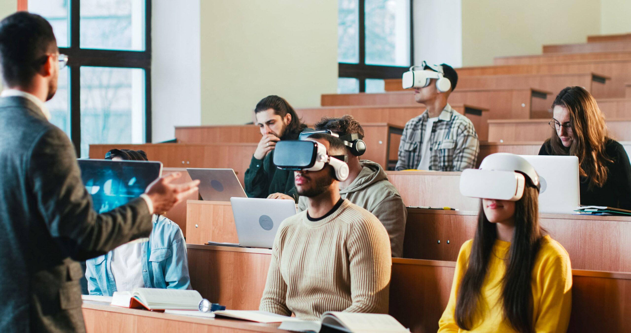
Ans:
[[[410,332],[391,315],[381,313],[325,312],[322,324],[339,327],[343,324],[351,332]]]

